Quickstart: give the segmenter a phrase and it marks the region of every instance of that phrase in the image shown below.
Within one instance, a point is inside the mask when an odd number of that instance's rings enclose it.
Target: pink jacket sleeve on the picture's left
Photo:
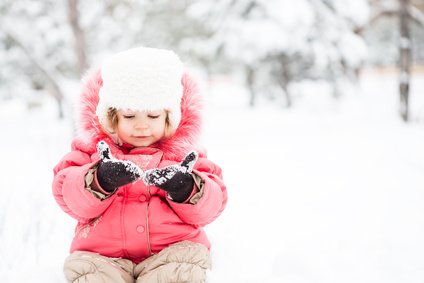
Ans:
[[[100,216],[114,199],[101,201],[86,189],[85,176],[97,163],[98,158],[73,147],[53,169],[53,196],[62,210],[79,222]]]

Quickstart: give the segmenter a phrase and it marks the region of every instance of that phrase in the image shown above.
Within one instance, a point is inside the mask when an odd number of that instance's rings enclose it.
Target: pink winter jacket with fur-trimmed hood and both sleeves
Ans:
[[[210,248],[202,227],[221,214],[227,194],[221,169],[196,145],[201,107],[197,88],[187,75],[182,84],[182,118],[175,134],[152,147],[128,148],[114,144],[102,131],[95,115],[101,74],[87,77],[80,104],[81,135],[54,168],[54,197],[78,221],[71,252],[90,251],[138,263],[182,240]],[[199,159],[193,173],[201,179],[200,199],[195,204],[175,203],[163,190],[137,181],[101,200],[86,188],[87,173],[99,161],[96,144],[100,140],[109,144],[114,157],[131,160],[143,170],[179,163],[191,150],[197,150]]]

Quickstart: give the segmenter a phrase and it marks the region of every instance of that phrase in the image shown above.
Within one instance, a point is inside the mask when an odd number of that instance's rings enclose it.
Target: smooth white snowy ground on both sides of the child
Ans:
[[[393,78],[368,74],[337,102],[309,87],[285,111],[213,84],[204,143],[229,202],[207,228],[208,282],[424,281],[424,81],[405,125]],[[64,282],[74,222],[50,185],[71,124],[48,109],[0,105],[2,282]]]

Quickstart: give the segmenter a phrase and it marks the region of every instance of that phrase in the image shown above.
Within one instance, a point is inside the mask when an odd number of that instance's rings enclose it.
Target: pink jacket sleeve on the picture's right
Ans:
[[[205,226],[215,220],[227,204],[227,189],[222,181],[221,168],[205,158],[199,158],[193,173],[202,179],[203,195],[196,204],[169,201],[182,221]]]

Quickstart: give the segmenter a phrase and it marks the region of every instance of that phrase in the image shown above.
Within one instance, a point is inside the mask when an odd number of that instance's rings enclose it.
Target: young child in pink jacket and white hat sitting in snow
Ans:
[[[54,168],[53,194],[78,221],[69,282],[205,282],[202,229],[227,202],[197,145],[200,97],[174,52],[117,53],[88,76],[82,134]]]

